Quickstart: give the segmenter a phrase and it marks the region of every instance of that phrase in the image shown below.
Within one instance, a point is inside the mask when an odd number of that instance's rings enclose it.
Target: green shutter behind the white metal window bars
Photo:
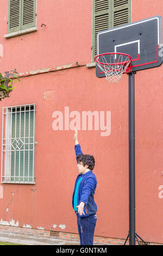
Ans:
[[[33,181],[33,140],[34,110],[12,113],[11,181]],[[17,142],[19,144],[18,147]],[[22,178],[18,176],[22,176]]]

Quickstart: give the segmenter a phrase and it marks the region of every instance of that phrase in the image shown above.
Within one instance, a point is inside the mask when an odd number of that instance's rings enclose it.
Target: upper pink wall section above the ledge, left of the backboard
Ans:
[[[7,34],[8,29],[8,1],[2,0],[0,43],[4,47],[4,58],[1,60],[3,70],[13,69],[14,66],[22,73],[68,63],[90,62],[91,2],[46,0],[45,4],[44,0],[37,0],[38,31],[4,39],[3,35]],[[42,23],[46,27],[41,27]]]

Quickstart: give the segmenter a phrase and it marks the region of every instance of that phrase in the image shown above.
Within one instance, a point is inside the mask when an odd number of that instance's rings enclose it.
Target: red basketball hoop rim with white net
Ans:
[[[125,53],[109,52],[95,57],[99,66],[99,74],[105,73],[106,80],[110,83],[119,82],[122,74],[132,71],[131,56]]]

